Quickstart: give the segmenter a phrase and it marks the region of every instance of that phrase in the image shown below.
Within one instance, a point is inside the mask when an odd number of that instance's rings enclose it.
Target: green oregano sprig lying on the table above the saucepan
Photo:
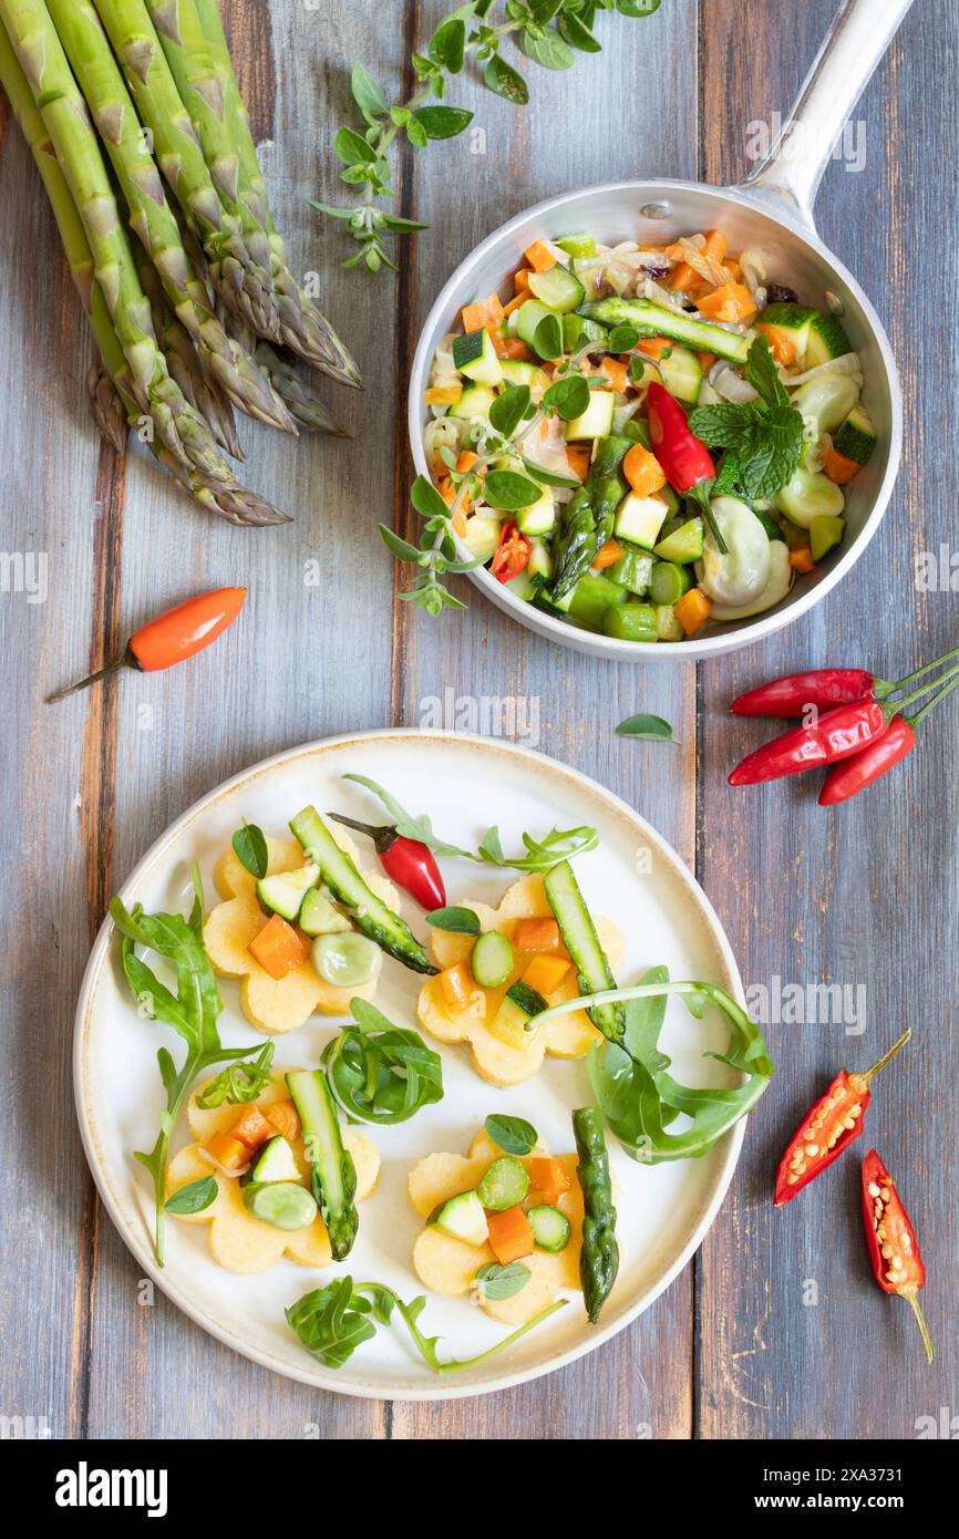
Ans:
[[[348,186],[363,189],[353,208],[309,200],[320,214],[343,220],[359,249],[343,262],[345,268],[396,268],[383,245],[385,235],[408,235],[426,225],[403,219],[379,208],[377,199],[393,199],[393,168],[389,151],[399,135],[414,149],[425,149],[429,140],[456,139],[473,122],[465,108],[439,105],[449,80],[466,65],[482,68],[490,91],[516,106],[530,100],[530,88],[502,54],[502,45],[513,37],[533,63],[543,69],[570,69],[574,51],[600,52],[593,34],[600,11],[625,17],[651,15],[660,0],[468,0],[443,17],[425,52],[413,54],[416,89],[399,103],[388,103],[383,91],[359,60],[349,80],[363,129],[340,128],[334,148],[343,169],[340,179]],[[499,15],[499,20],[497,20]]]

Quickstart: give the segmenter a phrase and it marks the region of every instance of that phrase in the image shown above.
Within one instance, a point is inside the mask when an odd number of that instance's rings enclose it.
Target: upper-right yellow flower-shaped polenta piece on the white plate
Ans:
[[[499,930],[508,940],[513,940],[519,919],[553,917],[542,876],[525,876],[514,882],[503,893],[499,908],[471,903],[466,899],[459,906],[474,911],[480,930]],[[608,919],[594,919],[594,923],[610,966],[616,973],[622,962],[622,936]],[[468,963],[473,945],[473,936],[457,936],[446,930],[434,930],[429,937],[433,957],[443,970],[456,966],[457,962]],[[519,1085],[542,1068],[546,1053],[566,1059],[585,1057],[593,1043],[602,1040],[585,1010],[546,1022],[531,1034],[525,1048],[514,1048],[493,1034],[490,1022],[496,1017],[506,988],[522,977],[534,956],[533,951],[517,951],[514,970],[506,982],[500,988],[480,988],[474,983],[469,1003],[463,1008],[446,1003],[439,977],[428,979],[420,990],[417,1016],[423,1030],[440,1042],[468,1042],[473,1050],[473,1067],[491,1085]],[[545,994],[545,999],[548,1005],[559,1005],[566,999],[576,999],[576,968],[570,966],[559,988]]]

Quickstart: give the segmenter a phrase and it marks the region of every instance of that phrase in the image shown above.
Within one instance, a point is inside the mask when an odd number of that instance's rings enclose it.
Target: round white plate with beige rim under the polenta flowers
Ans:
[[[719,919],[679,856],[631,806],[542,754],[453,733],[389,729],[336,737],[254,765],[172,823],[125,883],[125,903],[139,902],[146,911],[185,911],[192,860],[199,862],[212,897],[214,862],[243,819],[283,836],[288,819],[314,802],[322,810],[383,822],[368,793],[340,780],[345,773],[386,785],[413,811],[429,813],[446,840],[468,848],[476,848],[490,823],[499,825],[506,851],[520,846],[523,831],[596,826],[599,846],[577,859],[576,871],[586,903],[623,933],[620,980],[633,982],[645,968],[665,963],[674,979],[719,983],[742,1000],[742,983]],[[369,845],[366,851],[368,865],[374,865]],[[516,873],[462,859],[445,859],[442,865],[449,903],[465,899],[496,903],[516,879]],[[403,900],[403,911],[425,939],[428,926],[409,899]],[[416,974],[386,959],[377,1005],[397,1023],[416,1025],[419,983]],[[220,990],[225,1045],[254,1047],[262,1039],[242,1014],[239,983],[223,979]],[[312,1016],[299,1031],[274,1039],[276,1068],[319,1063],[336,1030],[329,1017]],[[703,1022],[696,1022],[680,1003],[670,1005],[662,1045],[685,1083],[734,1083],[731,1071],[702,1057],[703,1050],[723,1047],[725,1040],[725,1025],[716,1013],[708,1011]],[[346,1394],[411,1400],[483,1394],[550,1373],[608,1340],[668,1287],[702,1242],[733,1177],[743,1134],[739,1123],[703,1159],[651,1168],[627,1159],[611,1140],[622,1262],[597,1327],[586,1324],[582,1294],[573,1293],[566,1308],[469,1373],[436,1377],[411,1354],[400,1328],[380,1328],[374,1340],[334,1371],[303,1350],[283,1310],[329,1280],[336,1268],[317,1273],[283,1259],[260,1276],[232,1276],[211,1259],[206,1225],[183,1225],[175,1219],[168,1227],[166,1265],[157,1268],[151,1193],[132,1151],[151,1148],[155,1139],[162,1103],[159,1047],[168,1047],[180,1059],[174,1034],[139,1016],[122,976],[117,933],[108,920],[94,945],[77,1007],[74,1074],[86,1156],[111,1219],[143,1273],[211,1336],[291,1379]],[[465,1154],[493,1111],[533,1122],[556,1153],[573,1150],[570,1113],[591,1099],[583,1062],[548,1057],[534,1079],[503,1091],[476,1076],[465,1048],[443,1047],[442,1057],[443,1100],[400,1127],[369,1130],[380,1150],[382,1173],[374,1196],[360,1205],[360,1233],[348,1262],[353,1276],[385,1282],[403,1299],[423,1291],[411,1268],[422,1227],[406,1197],[413,1163],[437,1150]],[[186,1140],[185,1128],[177,1128],[174,1148]],[[448,1356],[460,1359],[505,1334],[468,1297],[431,1294],[422,1324],[428,1334],[443,1337]]]

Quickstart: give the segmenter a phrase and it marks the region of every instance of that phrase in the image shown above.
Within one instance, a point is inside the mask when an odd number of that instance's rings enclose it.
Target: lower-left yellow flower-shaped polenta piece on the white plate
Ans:
[[[209,1083],[209,1080],[208,1080]],[[166,1173],[166,1191],[172,1196],[180,1187],[203,1176],[216,1176],[217,1196],[209,1208],[202,1213],[177,1214],[180,1224],[209,1224],[209,1250],[212,1259],[226,1271],[242,1276],[266,1271],[280,1259],[289,1256],[303,1267],[328,1267],[332,1260],[329,1239],[320,1217],[316,1217],[305,1230],[277,1230],[272,1224],[265,1224],[243,1202],[243,1188],[236,1177],[225,1176],[200,1153],[200,1147],[214,1133],[228,1133],[243,1111],[243,1107],[216,1107],[203,1111],[197,1107],[197,1096],[205,1090],[200,1085],[189,1097],[186,1111],[189,1131],[194,1142],[174,1154]],[[274,1100],[286,1100],[286,1083],[280,1076],[257,1096],[252,1105],[266,1108]],[[376,1188],[380,1174],[380,1156],[374,1143],[357,1128],[343,1130],[343,1145],[353,1154],[356,1165],[356,1200],[368,1197]],[[292,1140],[292,1153],[299,1165],[303,1185],[309,1185],[309,1163],[302,1139]]]

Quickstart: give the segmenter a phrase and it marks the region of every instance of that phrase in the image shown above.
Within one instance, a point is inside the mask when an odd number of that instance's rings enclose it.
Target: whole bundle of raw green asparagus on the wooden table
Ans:
[[[342,434],[291,352],[360,379],[286,265],[217,0],[0,0],[0,85],[91,322],[100,431],[137,426],[232,523],[286,522],[223,457],[232,406]]]

